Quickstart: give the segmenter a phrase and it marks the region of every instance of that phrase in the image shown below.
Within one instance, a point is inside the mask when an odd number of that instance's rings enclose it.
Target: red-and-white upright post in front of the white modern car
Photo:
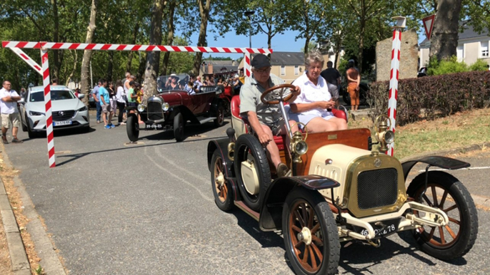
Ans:
[[[44,105],[46,107],[46,136],[48,137],[49,167],[56,167],[54,157],[53,114],[51,112],[51,87],[49,81],[48,50],[41,48],[41,61],[43,66]]]

